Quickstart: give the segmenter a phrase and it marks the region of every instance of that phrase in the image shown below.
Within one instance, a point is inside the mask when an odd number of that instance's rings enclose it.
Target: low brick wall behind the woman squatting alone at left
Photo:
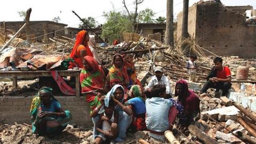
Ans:
[[[0,123],[13,124],[28,123],[30,124],[30,103],[33,97],[7,97],[0,101]],[[89,103],[84,97],[76,98],[72,96],[55,97],[64,110],[69,110],[73,117],[71,123],[92,126],[90,117]]]

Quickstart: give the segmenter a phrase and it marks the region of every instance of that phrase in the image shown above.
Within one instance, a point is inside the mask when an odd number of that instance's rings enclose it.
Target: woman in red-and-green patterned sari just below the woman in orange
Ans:
[[[83,58],[83,69],[80,73],[80,83],[82,94],[85,95],[91,110],[100,104],[100,97],[105,94],[105,73],[98,65],[97,61],[91,56]]]

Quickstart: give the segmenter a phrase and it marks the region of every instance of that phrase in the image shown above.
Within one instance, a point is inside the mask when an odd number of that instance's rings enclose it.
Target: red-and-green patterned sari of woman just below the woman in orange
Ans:
[[[92,71],[83,68],[80,73],[80,83],[87,102],[92,102],[95,100],[95,95],[92,92],[102,90],[105,86],[105,74],[93,57],[85,56],[84,60],[92,68]]]

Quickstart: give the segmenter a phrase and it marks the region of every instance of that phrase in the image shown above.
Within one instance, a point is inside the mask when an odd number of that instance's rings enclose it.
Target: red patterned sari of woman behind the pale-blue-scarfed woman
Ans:
[[[116,55],[120,55],[120,57],[122,58],[121,54],[115,54],[114,59]],[[122,85],[126,90],[129,84],[129,76],[127,74],[126,69],[123,66],[121,68],[117,68],[114,65],[114,60],[113,60],[113,66],[109,69],[107,79],[108,79],[109,89],[111,89],[111,87],[113,87],[115,84],[119,84],[119,85]]]

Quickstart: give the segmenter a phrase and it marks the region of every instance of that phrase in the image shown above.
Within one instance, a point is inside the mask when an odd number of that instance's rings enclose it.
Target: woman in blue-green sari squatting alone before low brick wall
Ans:
[[[57,134],[66,128],[72,116],[53,97],[51,87],[42,87],[31,102],[32,132],[38,135]]]

